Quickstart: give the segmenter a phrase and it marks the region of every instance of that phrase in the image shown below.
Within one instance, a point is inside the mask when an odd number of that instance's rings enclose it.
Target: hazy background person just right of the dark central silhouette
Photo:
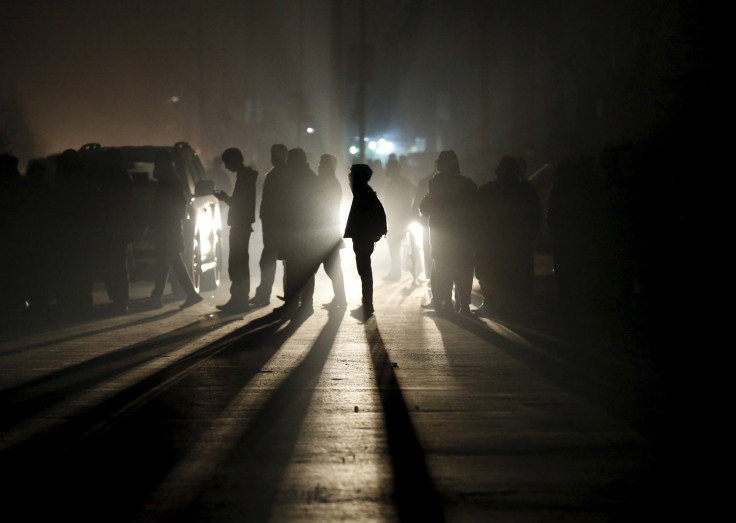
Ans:
[[[416,187],[401,175],[401,165],[396,158],[386,162],[386,187],[383,192],[383,204],[386,210],[388,225],[388,252],[391,257],[391,270],[385,280],[401,279],[401,244],[406,238],[409,224],[413,218],[412,203]],[[414,262],[415,260],[412,260]]]

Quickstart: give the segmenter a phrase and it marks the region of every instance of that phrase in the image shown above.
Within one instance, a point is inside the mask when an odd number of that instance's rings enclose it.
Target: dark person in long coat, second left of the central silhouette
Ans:
[[[280,248],[284,259],[284,305],[275,308],[274,314],[303,317],[314,312],[314,275],[322,261],[317,242],[319,186],[303,149],[289,149],[286,169],[289,196],[281,207]]]

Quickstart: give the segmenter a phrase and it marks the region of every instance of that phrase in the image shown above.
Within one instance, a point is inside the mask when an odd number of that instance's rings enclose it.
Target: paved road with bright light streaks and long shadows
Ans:
[[[425,285],[380,274],[366,323],[319,308],[320,272],[299,321],[218,316],[221,288],[6,334],[4,520],[662,516],[662,389],[636,336],[440,318]]]

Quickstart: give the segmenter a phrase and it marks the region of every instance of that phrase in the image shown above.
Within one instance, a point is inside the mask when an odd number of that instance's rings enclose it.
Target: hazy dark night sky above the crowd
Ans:
[[[330,26],[336,4],[341,19]],[[346,74],[357,1],[2,5],[0,144],[18,156],[180,139],[205,153],[247,143],[253,158],[284,141],[319,154],[355,133],[356,83]],[[492,148],[595,148],[671,117],[702,67],[687,1],[367,5],[376,58],[368,131],[421,136],[430,148],[482,148],[483,111]],[[313,122],[331,134],[302,143],[299,129]]]

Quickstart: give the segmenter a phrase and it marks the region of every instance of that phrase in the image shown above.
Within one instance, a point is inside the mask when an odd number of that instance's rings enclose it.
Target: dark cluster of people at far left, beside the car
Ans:
[[[93,281],[104,281],[113,310],[128,307],[128,248],[146,228],[118,149],[83,162],[68,149],[54,166],[0,159],[3,317],[19,312],[91,312]],[[52,303],[55,304],[52,307]]]

